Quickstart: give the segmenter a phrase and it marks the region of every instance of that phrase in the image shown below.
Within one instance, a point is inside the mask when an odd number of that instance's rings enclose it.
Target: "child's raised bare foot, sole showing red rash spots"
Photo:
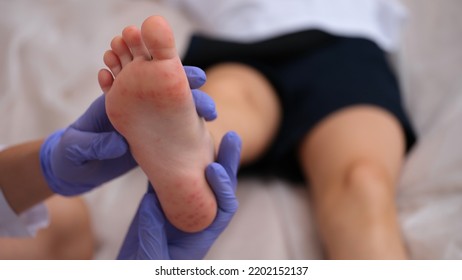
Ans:
[[[217,210],[204,175],[213,142],[197,115],[170,27],[150,17],[141,32],[125,28],[111,48],[104,61],[115,79],[108,70],[98,75],[111,123],[127,139],[168,220],[187,232],[206,228]]]

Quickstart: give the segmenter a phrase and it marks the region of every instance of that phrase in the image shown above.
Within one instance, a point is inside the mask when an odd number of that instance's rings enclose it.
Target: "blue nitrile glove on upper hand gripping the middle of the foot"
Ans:
[[[197,113],[206,120],[216,118],[215,103],[197,89],[205,83],[204,71],[184,68]],[[40,163],[53,192],[81,194],[136,166],[128,144],[106,115],[104,98],[97,98],[77,121],[51,134],[42,145]]]

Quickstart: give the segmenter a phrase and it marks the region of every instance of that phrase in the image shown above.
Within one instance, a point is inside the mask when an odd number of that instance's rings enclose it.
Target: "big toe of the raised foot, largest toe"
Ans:
[[[147,18],[141,26],[141,35],[153,59],[164,60],[177,56],[172,29],[163,17]]]

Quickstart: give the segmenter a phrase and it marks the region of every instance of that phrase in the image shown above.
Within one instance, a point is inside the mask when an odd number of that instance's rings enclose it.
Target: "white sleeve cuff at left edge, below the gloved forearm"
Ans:
[[[48,210],[43,203],[18,215],[11,209],[0,189],[0,237],[31,237],[48,225]]]

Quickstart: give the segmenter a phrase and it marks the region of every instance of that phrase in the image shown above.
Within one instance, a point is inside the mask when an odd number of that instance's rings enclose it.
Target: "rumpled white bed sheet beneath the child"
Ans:
[[[401,224],[413,258],[459,259],[462,2],[403,2],[411,17],[396,65],[420,141],[398,186]],[[1,1],[0,143],[44,137],[72,122],[100,94],[96,73],[110,39],[151,14],[170,20],[182,51],[187,21],[155,1]],[[85,196],[95,258],[115,257],[145,188],[134,170]],[[249,178],[238,197],[238,213],[207,258],[322,258],[304,186]]]

